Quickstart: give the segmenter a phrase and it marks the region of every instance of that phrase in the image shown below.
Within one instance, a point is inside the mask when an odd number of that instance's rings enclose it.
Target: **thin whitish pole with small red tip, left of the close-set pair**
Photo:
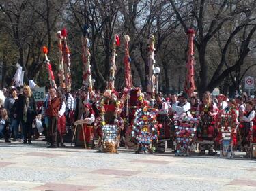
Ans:
[[[61,35],[61,31],[57,32],[57,38],[58,38],[58,46],[59,46],[59,86],[61,88],[65,88],[65,75],[64,75],[64,59],[63,59],[63,46],[62,46],[62,41],[63,41],[63,36]]]

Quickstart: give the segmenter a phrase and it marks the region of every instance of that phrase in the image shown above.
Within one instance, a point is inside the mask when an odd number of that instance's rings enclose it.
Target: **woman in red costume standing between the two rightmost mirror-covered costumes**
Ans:
[[[197,141],[199,143],[199,155],[205,154],[208,150],[209,155],[215,155],[213,151],[214,139],[216,137],[216,127],[214,118],[217,114],[217,108],[212,101],[210,92],[205,92],[201,103],[197,107],[197,116],[200,117],[199,126],[197,127]]]

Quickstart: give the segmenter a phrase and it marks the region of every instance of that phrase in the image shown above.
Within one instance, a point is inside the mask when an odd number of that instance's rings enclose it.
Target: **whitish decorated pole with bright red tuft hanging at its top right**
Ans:
[[[113,39],[113,46],[112,46],[112,55],[111,55],[111,68],[110,68],[110,75],[109,75],[109,89],[115,90],[115,71],[117,71],[117,66],[115,65],[115,56],[116,54],[116,47],[120,46],[119,36],[115,35]]]

